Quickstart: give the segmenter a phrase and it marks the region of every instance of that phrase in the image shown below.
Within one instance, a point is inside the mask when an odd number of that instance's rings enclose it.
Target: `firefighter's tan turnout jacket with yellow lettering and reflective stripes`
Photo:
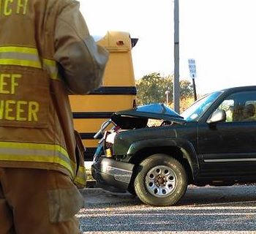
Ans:
[[[78,1],[1,0],[0,167],[59,170],[84,186],[68,94],[97,88],[107,61]]]

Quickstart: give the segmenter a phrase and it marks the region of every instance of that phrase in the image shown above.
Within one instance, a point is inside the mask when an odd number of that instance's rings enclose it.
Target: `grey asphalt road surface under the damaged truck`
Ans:
[[[85,189],[78,218],[84,233],[256,233],[256,186],[189,186],[176,206]]]

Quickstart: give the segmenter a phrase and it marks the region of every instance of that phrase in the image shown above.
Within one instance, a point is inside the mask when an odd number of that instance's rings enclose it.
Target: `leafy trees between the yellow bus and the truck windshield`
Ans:
[[[173,102],[173,76],[161,77],[159,73],[151,73],[137,81],[137,104],[166,102],[166,91],[169,90],[169,103]],[[188,80],[180,81],[181,99],[193,97],[193,87]]]

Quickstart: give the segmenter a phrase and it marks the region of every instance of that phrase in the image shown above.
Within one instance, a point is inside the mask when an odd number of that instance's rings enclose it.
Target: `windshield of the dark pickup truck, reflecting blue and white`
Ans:
[[[205,113],[207,108],[217,99],[217,97],[219,97],[220,94],[222,94],[221,91],[207,94],[188,107],[187,110],[181,113],[181,116],[186,121],[197,121],[200,116],[203,116],[203,113]]]

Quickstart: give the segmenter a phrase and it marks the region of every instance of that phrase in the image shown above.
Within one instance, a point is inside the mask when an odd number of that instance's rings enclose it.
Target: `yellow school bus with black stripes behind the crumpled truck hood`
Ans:
[[[86,147],[86,160],[91,160],[99,140],[94,139],[102,123],[113,112],[136,105],[135,75],[132,48],[138,39],[129,33],[108,31],[97,43],[110,53],[102,86],[87,95],[70,95],[75,129]]]

